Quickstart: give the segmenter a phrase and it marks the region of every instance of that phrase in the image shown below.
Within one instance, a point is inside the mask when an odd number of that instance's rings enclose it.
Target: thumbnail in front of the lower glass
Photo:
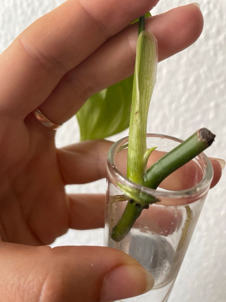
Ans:
[[[153,276],[139,266],[121,265],[104,278],[100,301],[115,301],[147,293],[154,286]]]

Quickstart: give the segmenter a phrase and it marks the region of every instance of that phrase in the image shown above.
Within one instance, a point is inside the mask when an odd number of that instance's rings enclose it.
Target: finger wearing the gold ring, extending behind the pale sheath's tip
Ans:
[[[186,5],[148,19],[146,26],[156,36],[159,60],[163,60],[196,41],[202,31],[203,18],[196,5]],[[41,111],[61,124],[74,115],[91,95],[131,76],[136,42],[137,24],[109,39],[63,77],[40,106]]]

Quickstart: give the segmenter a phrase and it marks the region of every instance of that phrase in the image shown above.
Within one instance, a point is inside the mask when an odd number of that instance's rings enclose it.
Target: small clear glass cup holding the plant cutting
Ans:
[[[147,147],[158,146],[158,151],[150,156],[149,165],[181,142],[175,137],[147,134]],[[126,178],[127,148],[128,137],[125,137],[116,142],[108,153],[104,244],[129,254],[154,277],[151,291],[123,299],[123,302],[166,302],[206,199],[213,168],[202,153],[153,190]],[[125,186],[138,195],[154,196],[160,202],[144,209],[126,237],[115,242],[111,239],[112,229],[121,218],[126,204],[131,201],[123,192]],[[177,191],[177,188],[180,190]]]

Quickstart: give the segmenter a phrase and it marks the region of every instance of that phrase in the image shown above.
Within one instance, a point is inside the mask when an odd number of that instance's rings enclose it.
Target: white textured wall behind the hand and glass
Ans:
[[[32,21],[62,0],[1,0],[0,52]],[[186,138],[205,126],[217,134],[207,155],[226,159],[226,4],[225,0],[200,0],[205,25],[200,39],[187,50],[159,64],[148,131]],[[153,14],[188,4],[187,0],[162,0]],[[114,136],[117,140],[127,131]],[[56,144],[78,142],[75,118],[57,133]],[[170,302],[226,301],[226,169],[203,207],[191,244],[181,266]],[[70,192],[105,192],[105,180],[67,187]],[[103,231],[70,230],[55,245],[101,245]]]

